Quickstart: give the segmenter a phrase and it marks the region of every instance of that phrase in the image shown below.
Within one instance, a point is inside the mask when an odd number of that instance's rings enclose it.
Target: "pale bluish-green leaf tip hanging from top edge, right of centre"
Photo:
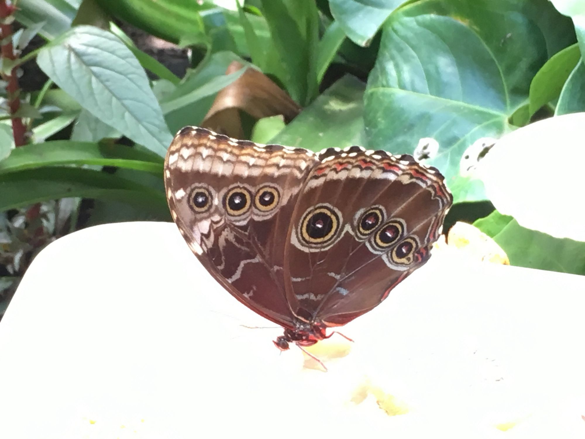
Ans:
[[[368,46],[380,26],[404,0],[329,0],[331,14],[346,35],[360,46]]]

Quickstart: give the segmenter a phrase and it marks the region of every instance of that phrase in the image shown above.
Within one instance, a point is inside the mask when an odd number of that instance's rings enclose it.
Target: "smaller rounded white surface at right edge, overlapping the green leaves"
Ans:
[[[503,136],[479,162],[488,199],[526,228],[585,241],[585,113],[543,119]]]

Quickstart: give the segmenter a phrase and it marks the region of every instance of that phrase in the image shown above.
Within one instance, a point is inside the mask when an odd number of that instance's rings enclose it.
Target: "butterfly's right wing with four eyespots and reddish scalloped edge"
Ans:
[[[429,258],[452,198],[410,156],[329,150],[307,177],[285,253],[298,318],[335,326],[371,310]]]

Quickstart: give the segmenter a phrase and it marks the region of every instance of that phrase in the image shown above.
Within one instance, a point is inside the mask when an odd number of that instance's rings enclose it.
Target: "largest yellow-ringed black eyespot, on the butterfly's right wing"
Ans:
[[[300,222],[300,236],[309,246],[321,246],[335,239],[341,227],[339,211],[328,204],[309,208]]]

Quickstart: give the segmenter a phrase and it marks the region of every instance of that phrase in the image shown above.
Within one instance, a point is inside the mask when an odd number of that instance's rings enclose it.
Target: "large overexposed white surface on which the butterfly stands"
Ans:
[[[585,437],[584,309],[585,277],[437,253],[324,373],[240,326],[273,324],[174,224],[94,227],[40,253],[0,322],[0,438]]]

